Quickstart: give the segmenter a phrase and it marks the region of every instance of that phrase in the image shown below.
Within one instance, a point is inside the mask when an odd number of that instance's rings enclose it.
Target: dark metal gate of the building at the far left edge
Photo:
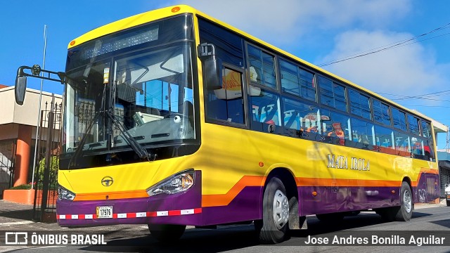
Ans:
[[[13,186],[17,140],[0,141],[0,195]]]

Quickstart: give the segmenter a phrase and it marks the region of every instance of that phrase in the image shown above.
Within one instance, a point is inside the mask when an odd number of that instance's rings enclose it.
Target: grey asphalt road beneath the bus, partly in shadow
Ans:
[[[25,225],[24,225],[25,226]],[[47,228],[48,230],[48,228]],[[65,229],[67,233],[102,233],[107,245],[70,245],[52,247],[14,247],[15,252],[450,252],[450,207],[432,207],[416,209],[409,222],[384,222],[380,216],[371,212],[363,212],[358,216],[346,217],[343,221],[325,223],[308,217],[307,231],[293,231],[289,240],[278,245],[259,245],[252,225],[226,226],[216,230],[188,229],[181,240],[162,244],[154,240],[145,226],[108,226],[91,228]],[[383,232],[384,231],[384,232]],[[389,231],[389,232],[386,232]],[[409,243],[411,235],[413,243]],[[435,240],[444,238],[446,246],[418,246],[418,238],[425,242],[430,235]],[[326,245],[307,245],[309,238],[320,238],[330,241]],[[375,236],[375,241],[373,240]],[[357,246],[331,244],[341,240],[342,244],[352,240],[361,240]],[[364,239],[366,238],[366,239]],[[405,242],[401,242],[404,238]],[[314,239],[313,239],[314,240]],[[368,240],[368,244],[364,244]],[[381,242],[380,240],[385,240]],[[392,246],[386,243],[399,242]],[[354,241],[357,243],[357,241]],[[375,242],[376,246],[368,246]],[[6,250],[6,251],[9,251]],[[4,249],[4,252],[6,252]]]

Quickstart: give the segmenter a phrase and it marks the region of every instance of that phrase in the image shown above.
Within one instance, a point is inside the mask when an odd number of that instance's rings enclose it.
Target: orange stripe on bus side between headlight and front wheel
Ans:
[[[243,176],[228,193],[202,195],[202,207],[217,207],[229,205],[236,195],[246,186],[264,186],[265,176]]]

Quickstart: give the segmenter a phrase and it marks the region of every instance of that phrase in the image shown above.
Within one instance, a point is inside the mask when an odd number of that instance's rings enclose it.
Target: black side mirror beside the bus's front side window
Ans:
[[[209,50],[211,48],[211,50]],[[198,56],[203,62],[203,81],[208,90],[222,88],[222,61],[216,56],[213,44],[198,46]]]

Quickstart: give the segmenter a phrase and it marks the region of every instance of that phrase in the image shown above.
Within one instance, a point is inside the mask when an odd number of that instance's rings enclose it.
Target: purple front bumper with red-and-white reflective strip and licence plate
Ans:
[[[195,171],[195,183],[184,193],[119,200],[56,202],[56,219],[60,226],[105,226],[115,224],[201,225],[201,179]],[[98,207],[112,207],[110,218],[99,218]]]

